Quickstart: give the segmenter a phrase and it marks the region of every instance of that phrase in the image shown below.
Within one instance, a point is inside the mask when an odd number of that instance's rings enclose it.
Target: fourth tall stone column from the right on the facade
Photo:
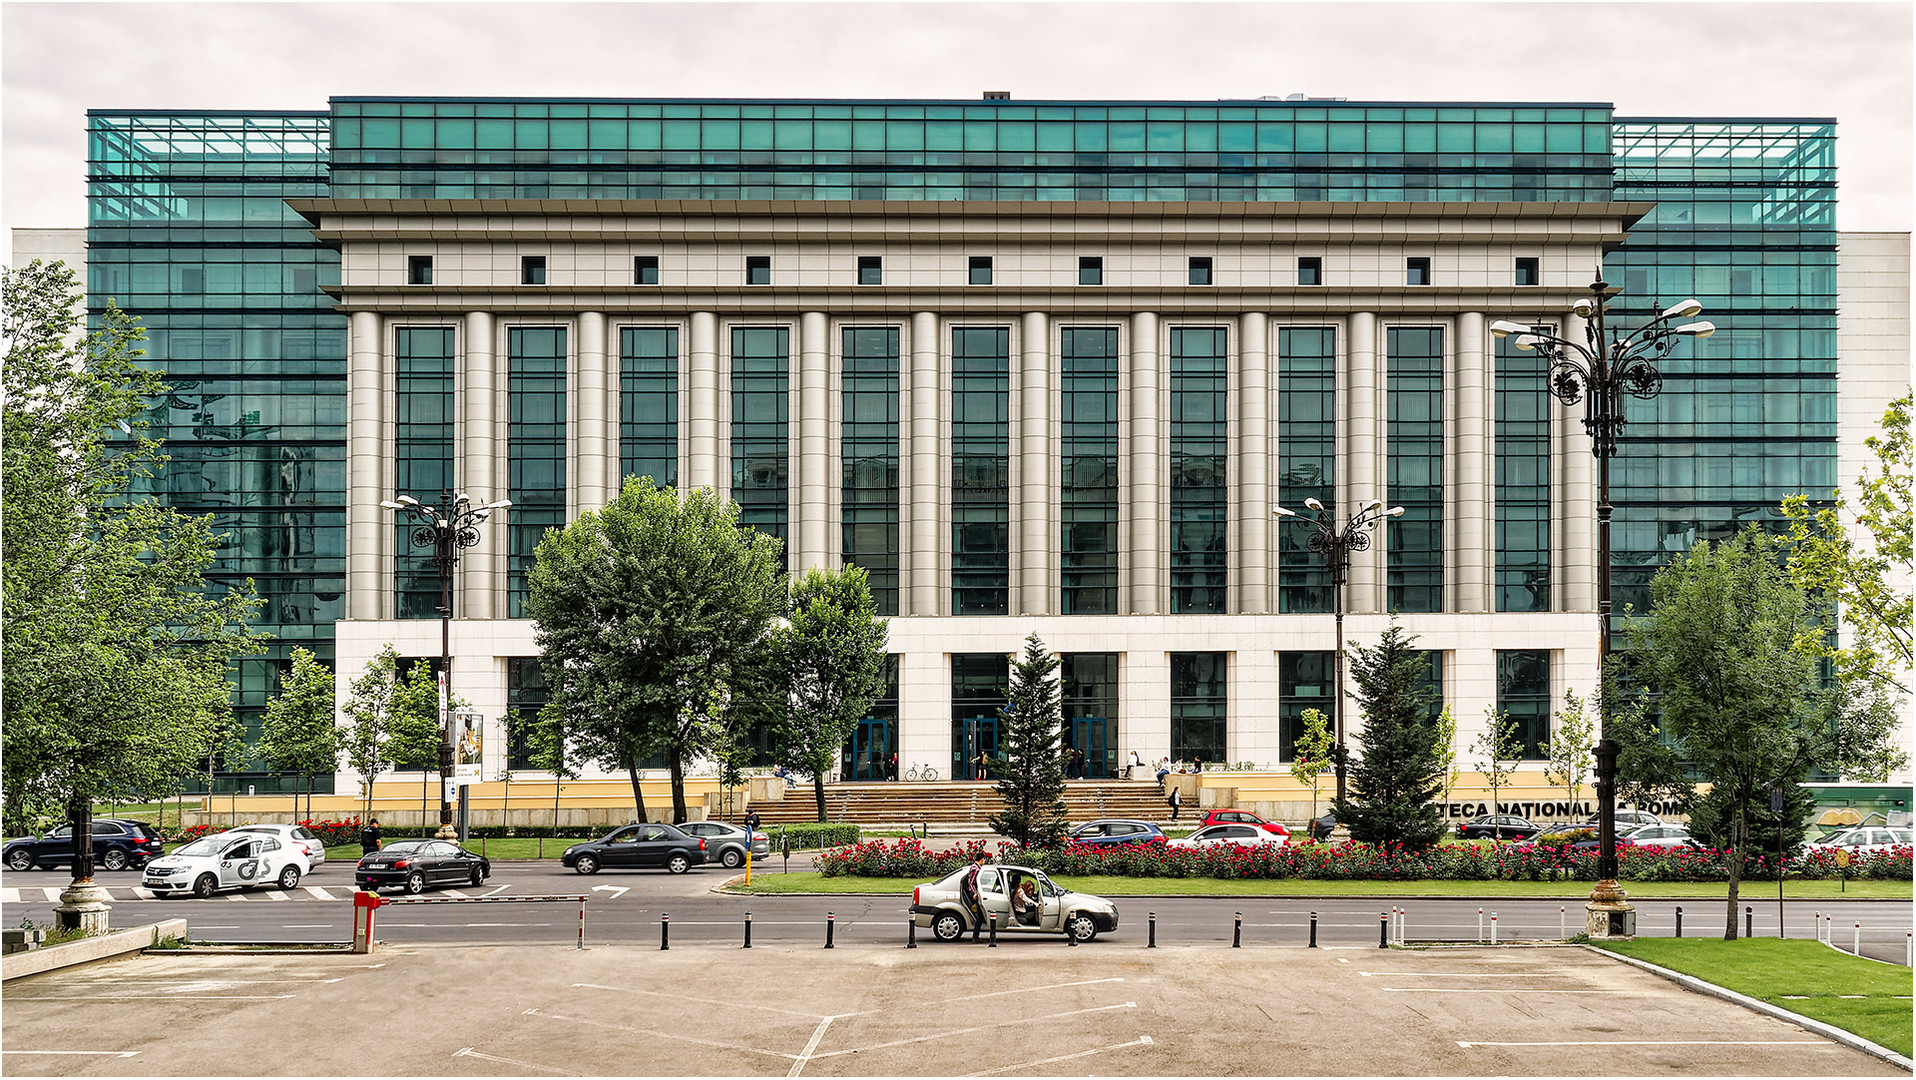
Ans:
[[[1265,312],[1238,316],[1236,383],[1238,454],[1230,481],[1238,538],[1230,580],[1238,601],[1232,611],[1261,615],[1270,611],[1270,329]]]

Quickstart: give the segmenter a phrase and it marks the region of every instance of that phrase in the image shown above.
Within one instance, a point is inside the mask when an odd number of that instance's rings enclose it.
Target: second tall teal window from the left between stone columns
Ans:
[[[565,525],[563,326],[506,329],[506,617],[525,619],[533,553],[548,529]]]

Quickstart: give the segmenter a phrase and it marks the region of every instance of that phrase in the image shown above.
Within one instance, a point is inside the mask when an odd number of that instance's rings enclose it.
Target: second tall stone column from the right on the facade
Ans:
[[[1491,582],[1494,580],[1493,544],[1496,534],[1493,521],[1493,477],[1491,471],[1491,379],[1487,377],[1483,312],[1460,312],[1456,316],[1456,483],[1448,484],[1450,506],[1445,515],[1454,515],[1456,548],[1445,561],[1456,573],[1447,573],[1447,580],[1456,582],[1452,611],[1491,611]]]

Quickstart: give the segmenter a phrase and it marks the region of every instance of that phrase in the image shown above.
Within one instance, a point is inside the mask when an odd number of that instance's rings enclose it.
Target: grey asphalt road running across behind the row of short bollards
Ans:
[[[772,864],[778,866],[776,862]],[[797,866],[797,864],[795,864]],[[807,860],[809,866],[809,860]],[[764,873],[764,871],[757,871]],[[776,873],[776,869],[774,869]],[[443,889],[433,900],[515,900],[529,896],[590,896],[584,906],[584,940],[600,944],[646,944],[655,948],[659,923],[671,915],[674,946],[740,946],[743,921],[753,917],[755,944],[824,944],[826,913],[833,913],[835,944],[904,944],[910,885],[893,896],[734,896],[713,892],[732,871],[699,867],[673,877],[663,871],[602,871],[592,877],[552,864],[500,862],[483,889]],[[138,875],[98,873],[96,881],[115,896],[115,925],[184,917],[195,938],[224,942],[324,942],[347,940],[353,929],[351,871],[328,866],[307,877],[291,892],[222,892],[209,900],[138,898]],[[0,873],[0,921],[19,925],[23,917],[50,921],[65,871]],[[1148,915],[1157,913],[1161,946],[1228,946],[1236,915],[1243,915],[1245,948],[1305,946],[1311,913],[1318,915],[1322,946],[1374,946],[1380,915],[1403,908],[1406,940],[1485,940],[1496,915],[1498,940],[1558,940],[1583,925],[1575,900],[1406,900],[1406,898],[1259,898],[1259,896],[1130,896],[1119,898],[1119,929],[1113,942],[1144,946]],[[1638,936],[1671,936],[1676,908],[1684,913],[1686,936],[1721,936],[1721,900],[1636,900]],[[1755,915],[1757,936],[1774,936],[1776,898],[1745,894]],[[1479,915],[1481,911],[1481,915]],[[1788,936],[1814,936],[1814,913],[1832,915],[1836,944],[1849,948],[1860,934],[1862,954],[1891,963],[1906,963],[1912,929],[1910,902],[1885,900],[1788,900]],[[1481,919],[1481,921],[1479,921]],[[579,940],[579,902],[513,904],[395,904],[379,911],[379,940],[395,944],[565,944]],[[1742,923],[1742,911],[1738,913]],[[1479,929],[1481,927],[1481,929]],[[1859,931],[1860,927],[1860,931]],[[1740,927],[1742,931],[1742,927]],[[929,944],[929,942],[927,942]]]

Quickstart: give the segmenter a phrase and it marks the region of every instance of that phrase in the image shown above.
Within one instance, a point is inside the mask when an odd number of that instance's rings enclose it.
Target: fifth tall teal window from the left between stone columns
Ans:
[[[845,329],[843,553],[879,615],[899,613],[899,327]]]

